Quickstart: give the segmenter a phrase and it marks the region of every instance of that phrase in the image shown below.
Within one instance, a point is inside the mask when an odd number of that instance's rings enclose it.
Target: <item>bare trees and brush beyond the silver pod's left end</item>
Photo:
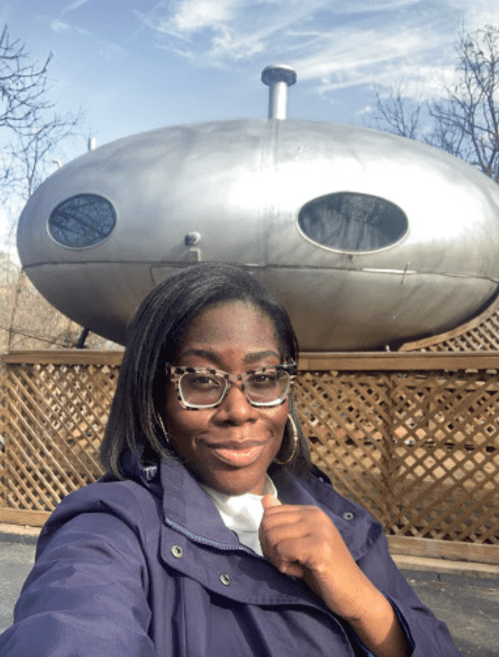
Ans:
[[[25,202],[54,168],[55,149],[76,133],[78,115],[61,115],[49,99],[52,55],[30,63],[25,46],[0,35],[0,202]],[[58,154],[58,153],[57,153]],[[14,217],[14,212],[12,213]],[[12,221],[12,229],[14,228]],[[13,232],[13,231],[12,231]],[[46,301],[11,258],[0,252],[0,351],[75,347],[82,327]],[[106,341],[90,335],[86,346]]]

